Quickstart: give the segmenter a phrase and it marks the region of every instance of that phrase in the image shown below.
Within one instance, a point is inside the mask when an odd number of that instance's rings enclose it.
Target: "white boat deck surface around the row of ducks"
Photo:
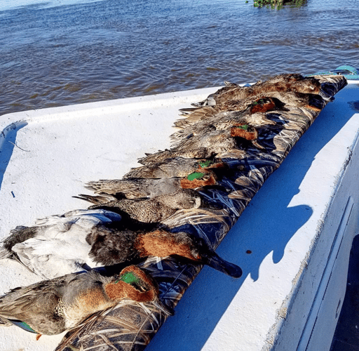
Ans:
[[[356,83],[325,107],[219,246],[243,277],[205,267],[147,351],[329,349],[358,234]],[[179,108],[215,90],[1,116],[0,237],[36,218],[86,208],[72,197],[86,192],[84,183],[121,178],[144,152],[170,147]],[[10,260],[0,261],[0,274],[0,294],[39,281]],[[48,351],[64,334],[36,341],[13,326],[1,335],[0,350]]]

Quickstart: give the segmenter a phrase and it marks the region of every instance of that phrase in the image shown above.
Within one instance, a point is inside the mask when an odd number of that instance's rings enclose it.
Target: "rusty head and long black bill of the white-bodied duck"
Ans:
[[[139,237],[137,250],[142,257],[179,256],[191,260],[191,263],[209,265],[234,278],[242,275],[241,267],[223,260],[204,239],[186,232],[171,233],[165,230],[149,232]]]

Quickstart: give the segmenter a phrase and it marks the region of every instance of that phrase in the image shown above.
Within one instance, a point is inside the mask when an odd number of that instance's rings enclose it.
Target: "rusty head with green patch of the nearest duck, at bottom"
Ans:
[[[172,310],[165,307],[159,300],[158,286],[154,279],[135,265],[129,265],[121,270],[118,277],[109,282],[104,289],[111,300],[130,299],[140,303],[152,302],[165,314],[173,314]]]

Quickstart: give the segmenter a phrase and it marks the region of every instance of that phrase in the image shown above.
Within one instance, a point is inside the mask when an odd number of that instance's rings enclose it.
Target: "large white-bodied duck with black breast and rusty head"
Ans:
[[[2,243],[1,251],[6,253],[2,258],[15,259],[45,279],[100,266],[140,263],[148,256],[176,256],[240,276],[238,266],[219,258],[204,239],[186,232],[142,227],[130,230],[116,213],[113,221],[96,224],[86,216],[86,210],[65,215],[44,218],[39,226],[16,227]]]

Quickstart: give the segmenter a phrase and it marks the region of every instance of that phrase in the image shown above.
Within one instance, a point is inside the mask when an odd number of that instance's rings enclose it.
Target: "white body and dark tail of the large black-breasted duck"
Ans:
[[[102,209],[75,210],[36,220],[32,227],[18,226],[1,241],[0,258],[17,260],[31,272],[51,279],[96,267],[88,256],[86,236],[97,227],[122,223],[118,213]],[[53,244],[48,244],[53,241]]]

